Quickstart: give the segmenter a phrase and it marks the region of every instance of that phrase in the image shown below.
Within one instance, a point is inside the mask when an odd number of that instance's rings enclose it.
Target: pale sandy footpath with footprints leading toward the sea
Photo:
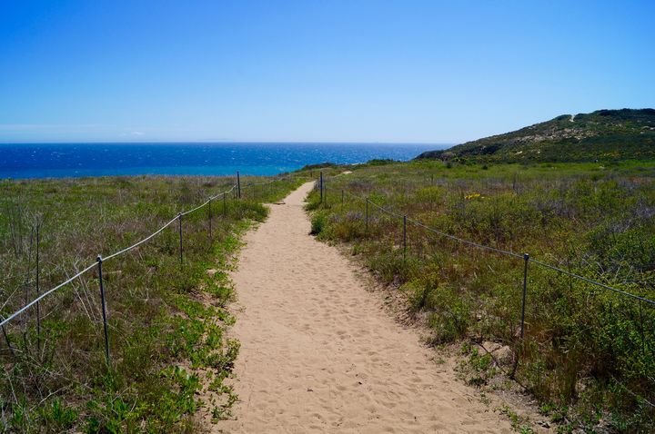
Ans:
[[[235,419],[221,432],[510,432],[432,360],[338,251],[308,235],[306,183],[246,236]]]

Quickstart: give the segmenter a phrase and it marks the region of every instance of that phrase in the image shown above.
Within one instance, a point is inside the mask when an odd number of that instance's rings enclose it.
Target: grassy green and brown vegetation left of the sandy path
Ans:
[[[155,232],[233,178],[121,177],[0,182],[0,314]],[[227,378],[239,343],[227,278],[239,234],[261,221],[260,202],[294,182],[249,186],[103,262],[110,362],[96,268],[11,321],[0,336],[0,431],[195,432],[202,406],[215,419],[237,399]],[[210,220],[211,218],[211,220]],[[39,227],[36,274],[36,226]],[[210,229],[211,228],[211,229]],[[207,273],[208,269],[216,272]],[[37,327],[37,319],[40,320]],[[199,393],[207,399],[200,399]]]

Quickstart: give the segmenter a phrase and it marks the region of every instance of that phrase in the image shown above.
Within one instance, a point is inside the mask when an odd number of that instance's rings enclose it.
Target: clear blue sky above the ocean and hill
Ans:
[[[0,2],[0,142],[459,143],[655,105],[655,1]]]

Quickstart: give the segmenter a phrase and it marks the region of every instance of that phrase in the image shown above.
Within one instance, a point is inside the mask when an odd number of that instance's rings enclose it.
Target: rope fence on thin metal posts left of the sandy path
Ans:
[[[241,183],[241,175],[240,173],[237,172],[237,179],[236,182],[230,186],[226,191],[224,192],[219,192],[217,194],[214,194],[207,198],[205,202],[200,203],[194,208],[191,208],[189,210],[186,210],[184,212],[178,212],[174,218],[166,222],[164,225],[159,227],[155,232],[150,233],[143,239],[134,242],[130,246],[121,249],[117,252],[113,252],[111,254],[106,255],[103,257],[102,255],[98,255],[96,258],[96,261],[87,265],[84,267],[82,270],[77,271],[74,275],[68,277],[65,281],[62,281],[61,283],[55,285],[53,288],[41,292],[37,288],[37,296],[31,300],[26,302],[21,308],[17,309],[16,311],[13,311],[11,314],[7,315],[5,318],[0,315],[0,329],[2,329],[3,336],[5,338],[5,343],[8,347],[8,349],[11,351],[12,354],[15,354],[14,348],[11,344],[11,341],[8,338],[8,333],[5,329],[5,327],[11,322],[15,321],[18,317],[20,317],[22,314],[25,313],[25,311],[29,311],[31,308],[36,309],[36,324],[37,324],[37,338],[40,338],[40,325],[41,325],[41,312],[40,312],[40,303],[44,301],[45,298],[51,296],[53,293],[56,291],[61,290],[64,288],[66,285],[69,285],[70,283],[82,278],[86,273],[89,271],[96,270],[97,272],[97,280],[98,280],[98,287],[100,291],[100,299],[101,299],[101,305],[100,309],[102,312],[102,321],[103,321],[103,334],[104,334],[104,339],[105,339],[105,358],[106,358],[106,363],[110,364],[110,354],[109,354],[109,332],[108,332],[108,326],[107,326],[107,310],[106,310],[106,298],[105,298],[105,289],[104,289],[104,279],[103,279],[103,263],[106,261],[111,261],[113,259],[116,259],[117,257],[133,251],[137,247],[141,246],[142,244],[149,242],[153,240],[158,234],[161,232],[165,231],[166,228],[169,228],[170,226],[174,225],[177,223],[177,235],[178,235],[178,254],[179,254],[179,262],[180,262],[180,267],[184,265],[184,232],[183,232],[183,217],[192,214],[194,212],[198,212],[204,208],[207,208],[208,211],[208,231],[209,231],[209,239],[212,239],[212,203],[213,202],[221,202],[222,203],[222,213],[225,216],[227,214],[227,198],[231,195],[232,200],[236,201],[237,199],[240,198],[246,198],[247,199],[252,199],[252,200],[257,200],[257,194],[250,192],[250,194],[247,194],[245,190],[247,188],[257,188],[259,186],[260,188],[270,188],[270,185],[274,182],[280,182],[280,181],[293,181],[294,177],[291,175],[286,175],[286,176],[280,176],[275,179],[272,179],[267,182],[248,182],[242,185]],[[263,195],[261,197],[264,197]],[[37,246],[37,252],[38,252],[38,239],[36,242]],[[36,266],[36,273],[38,276],[38,259],[37,259],[37,266]],[[36,279],[38,283],[38,277]],[[40,339],[37,341],[38,346],[40,347]]]

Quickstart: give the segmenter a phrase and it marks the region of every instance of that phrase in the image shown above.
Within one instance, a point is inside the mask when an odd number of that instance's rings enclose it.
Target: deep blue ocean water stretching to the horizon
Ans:
[[[406,161],[439,144],[0,143],[0,179],[105,175],[272,175],[314,163]]]

